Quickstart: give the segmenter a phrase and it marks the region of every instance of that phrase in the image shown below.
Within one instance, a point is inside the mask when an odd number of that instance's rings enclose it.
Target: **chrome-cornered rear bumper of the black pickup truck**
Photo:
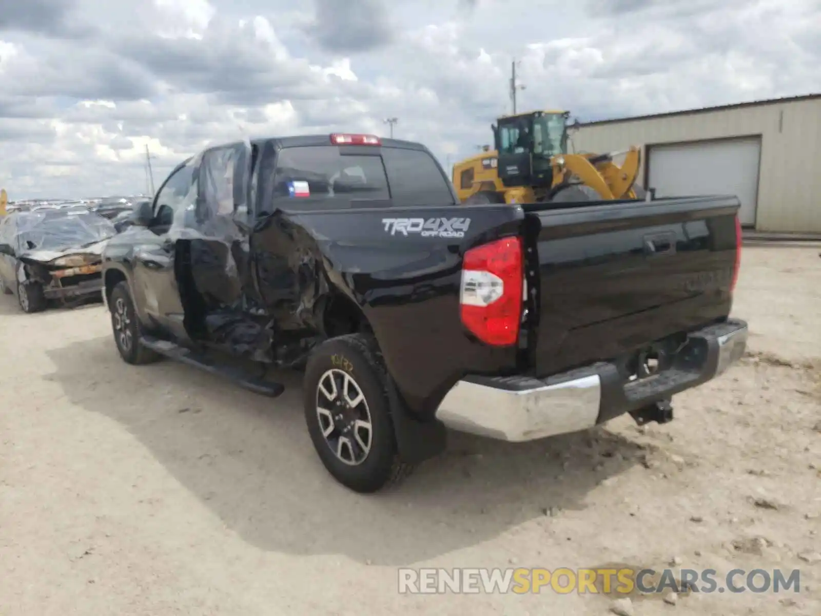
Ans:
[[[447,393],[436,417],[453,430],[520,442],[587,430],[722,374],[744,355],[747,324],[728,319],[689,334],[666,370],[628,379],[599,362],[547,379],[469,376]]]

